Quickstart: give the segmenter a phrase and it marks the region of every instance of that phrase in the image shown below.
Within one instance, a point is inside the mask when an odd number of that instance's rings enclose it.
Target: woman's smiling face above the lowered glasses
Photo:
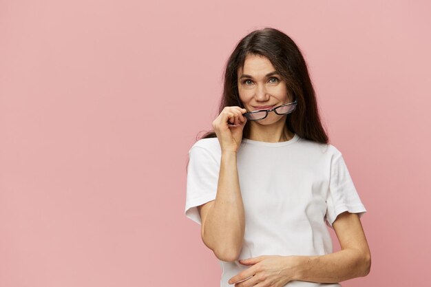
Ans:
[[[247,55],[244,68],[238,69],[238,92],[247,111],[272,109],[293,100],[288,95],[286,82],[277,74],[271,61],[260,55]],[[285,121],[286,115],[271,111],[264,120],[255,123],[269,125],[279,120]]]

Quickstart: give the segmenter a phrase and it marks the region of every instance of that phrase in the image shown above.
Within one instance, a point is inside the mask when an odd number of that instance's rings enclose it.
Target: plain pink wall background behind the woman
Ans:
[[[304,52],[368,213],[368,277],[428,286],[428,1],[0,1],[0,286],[219,286],[187,152],[236,43]],[[426,281],[425,281],[426,280]]]

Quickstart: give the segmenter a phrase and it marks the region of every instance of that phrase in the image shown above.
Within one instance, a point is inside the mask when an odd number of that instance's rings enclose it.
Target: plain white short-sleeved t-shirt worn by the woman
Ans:
[[[189,150],[185,215],[201,224],[196,206],[215,200],[220,171],[218,138]],[[260,255],[325,255],[333,252],[328,226],[344,211],[366,212],[341,152],[333,145],[299,138],[260,142],[243,138],[237,153],[245,232],[238,259]],[[249,268],[224,262],[221,287]],[[293,286],[340,286],[291,281]]]

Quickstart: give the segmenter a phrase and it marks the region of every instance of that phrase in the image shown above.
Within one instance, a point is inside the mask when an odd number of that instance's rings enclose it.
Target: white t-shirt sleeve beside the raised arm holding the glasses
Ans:
[[[191,147],[187,165],[185,215],[198,224],[202,222],[197,206],[215,200],[219,171],[220,163],[208,149]]]

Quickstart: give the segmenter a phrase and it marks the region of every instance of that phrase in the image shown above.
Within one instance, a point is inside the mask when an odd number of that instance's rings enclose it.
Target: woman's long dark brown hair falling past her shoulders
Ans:
[[[287,89],[295,95],[297,107],[288,114],[286,125],[301,138],[320,143],[328,143],[328,136],[319,117],[317,100],[304,57],[299,47],[283,32],[274,28],[255,30],[246,35],[235,47],[224,71],[223,96],[219,114],[224,107],[238,106],[238,68],[244,67],[247,55],[265,56],[286,82]],[[242,131],[247,138],[250,132],[249,122]],[[214,131],[208,131],[201,138],[215,138]]]

